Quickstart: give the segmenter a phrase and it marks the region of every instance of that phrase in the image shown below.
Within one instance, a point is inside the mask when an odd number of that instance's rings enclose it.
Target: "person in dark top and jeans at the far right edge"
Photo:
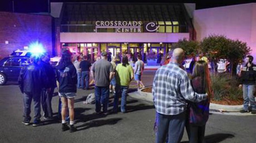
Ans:
[[[256,65],[252,63],[253,57],[247,56],[245,58],[245,66],[242,67],[240,76],[239,88],[243,87],[243,97],[244,97],[244,109],[240,110],[241,113],[250,112],[251,114],[256,114],[256,102],[254,98],[255,91],[255,81],[256,81]],[[249,109],[249,102],[251,104],[251,109]]]

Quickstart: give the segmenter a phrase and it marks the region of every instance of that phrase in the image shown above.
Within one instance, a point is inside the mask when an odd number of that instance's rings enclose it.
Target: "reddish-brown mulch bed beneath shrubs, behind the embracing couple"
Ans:
[[[148,92],[148,93],[152,93],[152,87],[148,87],[146,89],[143,89],[142,92]],[[238,99],[238,100],[231,100],[228,98],[223,98],[220,101],[216,101],[211,99],[211,103],[214,104],[221,104],[221,105],[243,105],[244,99]]]

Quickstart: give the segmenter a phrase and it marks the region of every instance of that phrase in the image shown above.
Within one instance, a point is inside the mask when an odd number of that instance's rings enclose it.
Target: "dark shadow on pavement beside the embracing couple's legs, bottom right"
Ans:
[[[211,134],[205,136],[205,143],[220,143],[221,141],[226,140],[227,138],[235,137],[233,134],[228,133],[219,133],[219,134]],[[188,141],[182,141],[181,143],[189,143]]]

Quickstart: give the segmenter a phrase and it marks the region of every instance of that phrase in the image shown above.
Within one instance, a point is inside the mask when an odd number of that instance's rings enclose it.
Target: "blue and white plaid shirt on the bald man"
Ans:
[[[165,115],[186,111],[186,100],[200,102],[207,98],[207,94],[194,92],[187,72],[172,61],[156,71],[152,93],[156,112]]]

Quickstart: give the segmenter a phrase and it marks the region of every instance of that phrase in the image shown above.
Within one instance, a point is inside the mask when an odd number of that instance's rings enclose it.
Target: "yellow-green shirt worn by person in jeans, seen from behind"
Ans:
[[[133,68],[130,64],[123,66],[121,63],[116,66],[116,84],[129,86],[133,77]]]

